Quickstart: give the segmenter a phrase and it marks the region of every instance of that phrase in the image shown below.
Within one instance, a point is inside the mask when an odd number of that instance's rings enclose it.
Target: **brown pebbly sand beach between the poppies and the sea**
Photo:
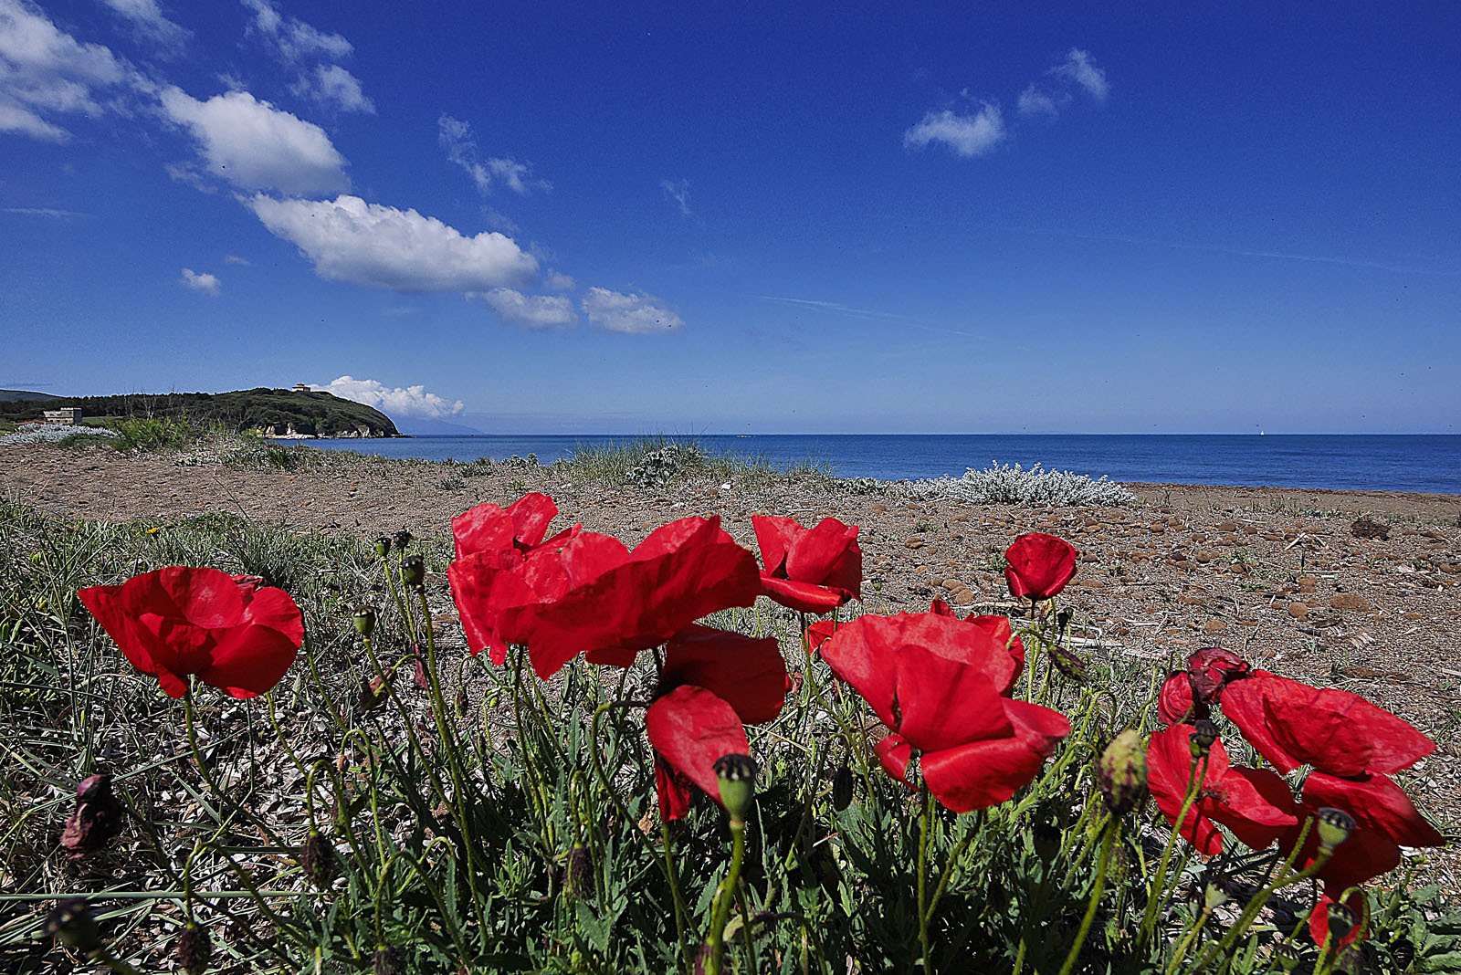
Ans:
[[[754,549],[752,514],[834,515],[861,527],[868,612],[920,610],[935,597],[1017,612],[999,553],[1023,531],[1050,531],[1081,550],[1064,598],[1088,652],[1159,670],[1218,645],[1362,693],[1439,743],[1408,791],[1443,832],[1461,823],[1458,495],[1128,485],[1135,505],[1036,509],[912,502],[818,479],[605,490],[558,467],[498,464],[465,477],[460,464],[329,454],[289,471],[45,445],[0,445],[0,498],[64,517],[167,525],[229,511],[365,537],[406,527],[444,539],[454,514],[524,490],[628,543],[678,517],[719,514]],[[1454,858],[1438,866],[1461,889]]]

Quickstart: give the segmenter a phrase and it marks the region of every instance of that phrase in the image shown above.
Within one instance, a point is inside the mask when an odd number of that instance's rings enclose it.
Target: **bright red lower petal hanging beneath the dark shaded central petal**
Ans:
[[[675,687],[652,704],[644,715],[644,730],[665,763],[717,803],[720,779],[716,762],[725,755],[751,753],[745,725],[735,708],[704,687]]]

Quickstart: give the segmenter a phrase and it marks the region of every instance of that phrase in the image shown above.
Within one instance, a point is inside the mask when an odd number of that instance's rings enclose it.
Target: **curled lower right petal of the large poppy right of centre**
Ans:
[[[955,813],[1007,801],[1040,774],[1071,725],[1065,715],[1027,704],[1004,701],[1014,734],[925,752],[923,781],[934,797]]]

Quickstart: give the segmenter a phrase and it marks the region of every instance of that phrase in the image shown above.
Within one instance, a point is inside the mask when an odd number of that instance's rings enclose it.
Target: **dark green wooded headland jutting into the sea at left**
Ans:
[[[23,398],[22,398],[23,397]],[[42,397],[42,398],[35,398]],[[222,425],[275,436],[400,436],[380,410],[329,393],[302,390],[237,390],[234,393],[165,393],[48,397],[19,393],[0,397],[0,419],[41,419],[41,412],[76,406],[82,417],[174,419],[196,426]]]

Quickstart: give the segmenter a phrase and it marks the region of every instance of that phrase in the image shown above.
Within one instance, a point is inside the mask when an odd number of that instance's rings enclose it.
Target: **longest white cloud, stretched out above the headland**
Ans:
[[[405,292],[469,292],[530,280],[538,261],[510,236],[465,236],[435,217],[359,197],[244,203],[298,247],[320,277]]]

